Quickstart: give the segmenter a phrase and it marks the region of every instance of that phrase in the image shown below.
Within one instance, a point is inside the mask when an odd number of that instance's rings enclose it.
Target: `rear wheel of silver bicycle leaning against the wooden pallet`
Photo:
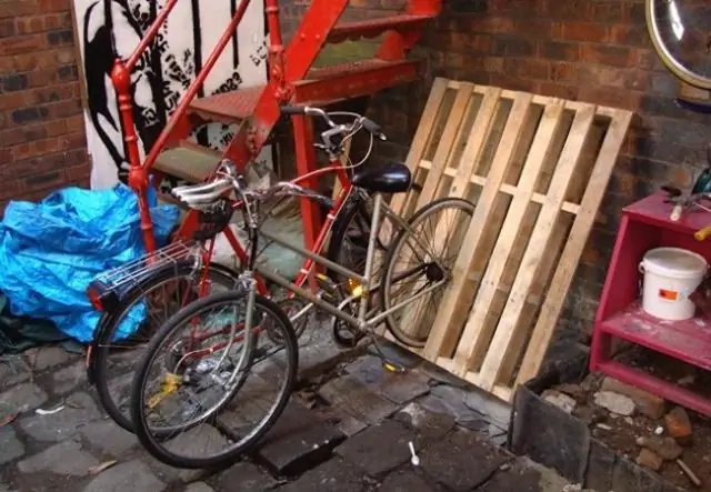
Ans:
[[[385,318],[399,342],[424,347],[473,213],[470,201],[435,200],[418,210],[392,242],[382,265],[380,305],[388,311],[419,295]]]

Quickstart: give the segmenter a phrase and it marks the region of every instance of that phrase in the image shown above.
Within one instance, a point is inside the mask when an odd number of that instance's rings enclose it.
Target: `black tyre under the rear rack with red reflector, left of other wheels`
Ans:
[[[238,272],[219,263],[210,263],[209,268],[210,280],[212,282],[219,279],[216,283],[228,289],[233,288],[237,284],[239,280]],[[171,279],[188,278],[192,273],[194,273],[194,263],[192,261],[181,261],[174,265],[166,265],[164,268],[157,270],[154,273],[142,279],[124,294],[120,303],[121,309],[118,309],[112,313],[103,313],[99,321],[99,329],[97,332],[97,340],[91,362],[93,383],[97,388],[99,401],[104,411],[119,426],[129,432],[134,431],[130,415],[121,412],[121,409],[113,400],[109,389],[107,364],[110,357],[109,351],[111,340],[123,315],[143,297],[147,291],[150,291]]]

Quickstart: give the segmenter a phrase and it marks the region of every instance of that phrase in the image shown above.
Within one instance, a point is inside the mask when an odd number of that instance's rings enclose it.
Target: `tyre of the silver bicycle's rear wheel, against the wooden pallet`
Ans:
[[[450,204],[449,207],[463,210],[465,213],[469,214],[470,218],[474,213],[475,204],[468,200],[460,199],[460,198],[441,198],[428,203],[427,205],[415,211],[414,214],[410,218],[410,220],[408,220],[408,225],[414,227],[418,222],[424,220],[427,214],[431,213],[432,211],[438,211],[443,208],[447,208],[448,203]],[[395,237],[395,239],[392,241],[392,244],[388,249],[385,260],[381,265],[382,270],[381,270],[380,278],[382,279],[382,288],[379,291],[379,295],[380,295],[380,305],[382,307],[382,311],[387,311],[391,308],[389,287],[392,284],[395,253],[398,252],[400,247],[404,243],[404,240],[408,233],[409,233],[408,229],[400,229],[400,231],[398,232],[398,235]],[[388,328],[388,331],[400,343],[411,348],[418,348],[418,349],[421,349],[422,347],[424,347],[427,342],[427,337],[424,339],[415,339],[409,335],[408,333],[405,333],[400,329],[397,321],[393,320],[392,314],[387,315],[384,321],[385,321],[385,327]]]

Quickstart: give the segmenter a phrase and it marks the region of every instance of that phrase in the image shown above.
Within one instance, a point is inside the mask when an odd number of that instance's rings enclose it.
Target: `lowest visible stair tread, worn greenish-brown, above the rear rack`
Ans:
[[[222,155],[213,150],[183,144],[161,152],[154,168],[191,183],[200,183],[210,175],[221,159]]]

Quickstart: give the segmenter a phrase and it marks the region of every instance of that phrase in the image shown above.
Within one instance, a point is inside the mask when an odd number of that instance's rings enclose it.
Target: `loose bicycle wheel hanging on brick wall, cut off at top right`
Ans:
[[[678,79],[711,90],[709,6],[693,0],[645,0],[647,30],[654,51]]]

